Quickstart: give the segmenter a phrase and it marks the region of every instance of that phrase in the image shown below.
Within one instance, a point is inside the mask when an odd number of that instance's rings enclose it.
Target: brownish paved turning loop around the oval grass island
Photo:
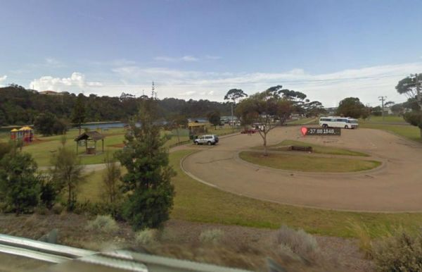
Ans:
[[[422,145],[382,130],[342,130],[341,137],[302,137],[298,127],[275,128],[269,144],[300,140],[371,154],[383,166],[362,173],[299,173],[252,165],[238,151],[262,144],[236,135],[203,147],[182,163],[193,177],[222,190],[300,206],[350,211],[422,211]]]

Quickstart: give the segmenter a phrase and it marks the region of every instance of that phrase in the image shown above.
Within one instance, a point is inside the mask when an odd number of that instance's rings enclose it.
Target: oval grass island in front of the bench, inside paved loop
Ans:
[[[240,158],[250,163],[271,168],[304,172],[354,172],[376,168],[379,161],[359,159],[324,158],[312,155],[268,154],[241,152]]]

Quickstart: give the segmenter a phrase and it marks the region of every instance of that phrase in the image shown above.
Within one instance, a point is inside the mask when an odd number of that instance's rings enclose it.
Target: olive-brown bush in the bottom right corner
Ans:
[[[378,271],[422,271],[422,236],[401,231],[373,245]]]

